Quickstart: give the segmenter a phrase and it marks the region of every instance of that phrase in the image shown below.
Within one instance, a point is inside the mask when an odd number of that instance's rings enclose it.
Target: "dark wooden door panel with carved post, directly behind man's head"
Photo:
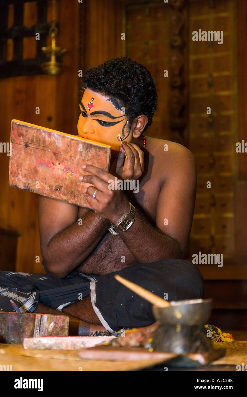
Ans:
[[[159,111],[148,134],[187,145],[187,4],[124,3],[125,54],[147,67],[157,87]]]

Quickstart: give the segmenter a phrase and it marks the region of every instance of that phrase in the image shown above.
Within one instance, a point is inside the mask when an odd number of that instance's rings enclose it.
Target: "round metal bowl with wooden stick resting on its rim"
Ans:
[[[170,301],[171,306],[153,306],[153,314],[161,325],[205,325],[212,311],[212,299]]]

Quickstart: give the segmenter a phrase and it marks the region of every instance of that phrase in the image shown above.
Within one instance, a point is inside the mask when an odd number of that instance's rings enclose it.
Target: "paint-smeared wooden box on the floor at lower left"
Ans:
[[[69,316],[0,312],[0,342],[23,343],[33,336],[67,336]]]

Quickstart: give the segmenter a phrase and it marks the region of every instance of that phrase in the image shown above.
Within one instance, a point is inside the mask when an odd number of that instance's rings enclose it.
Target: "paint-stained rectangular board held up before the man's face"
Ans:
[[[9,185],[40,195],[90,207],[79,180],[81,166],[109,170],[111,146],[24,121],[11,121],[12,154]]]

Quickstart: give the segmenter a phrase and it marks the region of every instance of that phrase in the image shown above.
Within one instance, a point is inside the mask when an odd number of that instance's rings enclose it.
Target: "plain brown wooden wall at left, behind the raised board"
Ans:
[[[25,23],[33,17],[33,4],[24,15]],[[52,20],[48,3],[48,22]],[[78,2],[61,0],[57,8],[60,33],[57,44],[67,48],[59,76],[34,75],[0,79],[1,142],[10,142],[11,119],[77,134],[78,117]],[[48,45],[50,40],[48,39]],[[30,49],[27,48],[27,51]],[[25,58],[25,53],[23,54]],[[35,113],[36,107],[40,114]],[[38,195],[8,185],[9,156],[0,153],[0,229],[18,233],[16,270],[44,272],[41,264],[38,231]],[[36,262],[40,256],[40,262]],[[6,264],[0,264],[0,269]]]

